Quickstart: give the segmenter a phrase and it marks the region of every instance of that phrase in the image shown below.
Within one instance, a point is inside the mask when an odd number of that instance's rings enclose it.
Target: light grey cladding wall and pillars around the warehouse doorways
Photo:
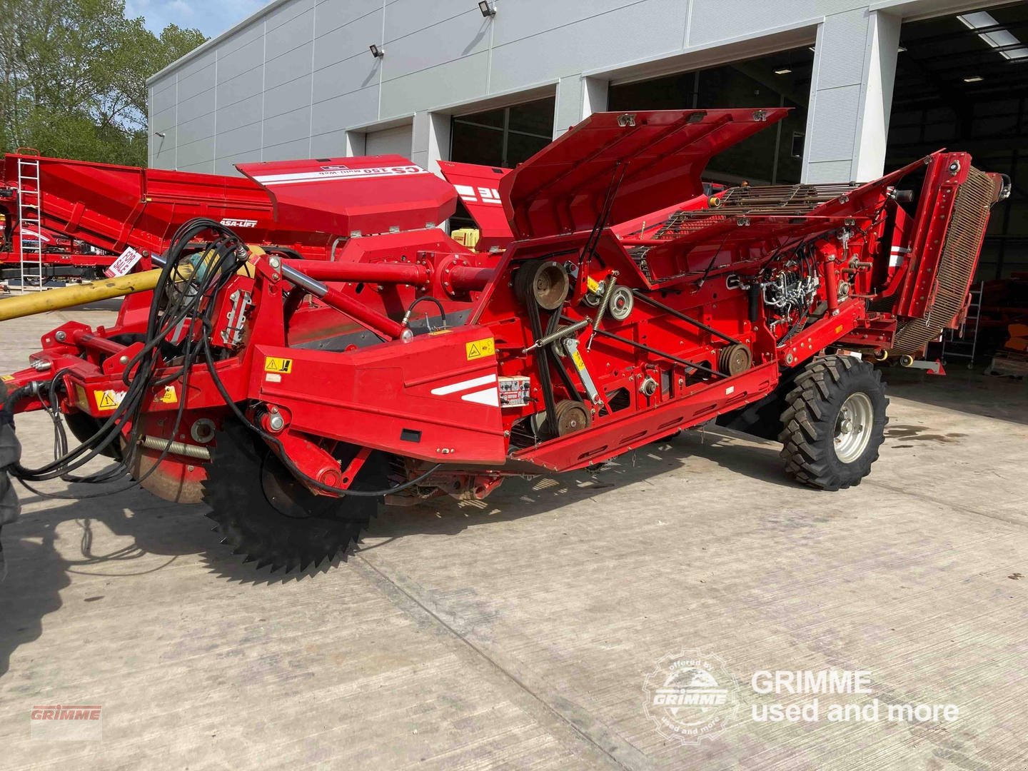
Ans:
[[[836,173],[840,163],[856,162],[882,122],[881,100],[861,87],[871,82],[884,97],[891,85],[887,60],[868,52],[869,3],[501,0],[498,14],[484,19],[474,0],[289,0],[150,79],[151,131],[166,134],[160,148],[150,137],[151,158],[180,168],[210,159],[223,170],[222,151],[251,152],[232,147],[253,143],[253,124],[261,126],[265,156],[297,157],[344,147],[346,131],[359,137],[367,126],[415,113],[424,120],[421,113],[450,106],[474,111],[483,100],[516,99],[558,82],[559,133],[602,101],[590,95],[601,95],[608,78],[717,59],[722,41],[754,40],[763,50],[775,31],[819,29],[831,56],[818,58],[812,84],[805,173]],[[874,5],[914,8],[908,0]],[[371,43],[384,48],[383,59],[371,57]],[[745,56],[745,44],[738,45],[732,56]],[[593,81],[595,87],[583,87]],[[865,107],[874,108],[873,121],[860,117]],[[207,143],[215,131],[219,140]],[[177,153],[176,139],[178,149],[189,147]],[[205,151],[212,157],[201,157]]]

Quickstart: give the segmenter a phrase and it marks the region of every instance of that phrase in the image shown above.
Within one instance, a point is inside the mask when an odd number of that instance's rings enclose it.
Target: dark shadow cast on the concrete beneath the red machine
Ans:
[[[687,431],[640,447],[596,471],[508,479],[485,501],[438,498],[413,507],[387,507],[372,520],[358,553],[405,536],[455,536],[468,527],[550,512],[644,479],[688,474],[689,462],[696,460],[761,482],[792,486],[782,472],[777,446],[759,441],[721,428]],[[39,501],[31,494],[22,500],[23,505]],[[0,583],[0,676],[6,673],[11,654],[21,645],[37,639],[43,618],[62,607],[61,592],[70,585],[71,574],[130,578],[158,572],[181,556],[196,554],[213,576],[273,585],[329,573],[347,559],[337,557],[320,567],[291,574],[270,573],[267,567],[256,571],[253,563],[243,563],[242,557],[220,546],[206,512],[203,505],[167,505],[134,489],[111,498],[69,501],[28,511],[4,527],[0,535],[7,577]],[[69,530],[70,523],[74,523],[74,530]],[[98,525],[132,542],[109,553],[98,553],[93,548]],[[155,561],[153,555],[167,559]]]

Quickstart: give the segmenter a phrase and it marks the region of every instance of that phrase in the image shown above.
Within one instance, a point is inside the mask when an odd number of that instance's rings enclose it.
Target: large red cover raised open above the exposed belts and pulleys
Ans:
[[[700,174],[711,156],[787,112],[776,107],[594,113],[501,181],[514,234],[529,238],[591,229],[614,185],[609,223],[699,195]]]

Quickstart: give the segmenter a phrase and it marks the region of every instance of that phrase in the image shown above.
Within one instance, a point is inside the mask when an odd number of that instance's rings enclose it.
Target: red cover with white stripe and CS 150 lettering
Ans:
[[[453,187],[400,155],[277,160],[235,167],[270,193],[280,223],[351,235],[437,225]]]

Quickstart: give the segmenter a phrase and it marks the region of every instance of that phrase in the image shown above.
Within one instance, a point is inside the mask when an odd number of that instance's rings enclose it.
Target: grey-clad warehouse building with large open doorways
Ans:
[[[276,0],[150,78],[149,157],[511,167],[594,111],[784,105],[705,177],[868,180],[968,150],[1014,182],[980,268],[998,278],[1028,267],[1025,41],[1025,3]]]

